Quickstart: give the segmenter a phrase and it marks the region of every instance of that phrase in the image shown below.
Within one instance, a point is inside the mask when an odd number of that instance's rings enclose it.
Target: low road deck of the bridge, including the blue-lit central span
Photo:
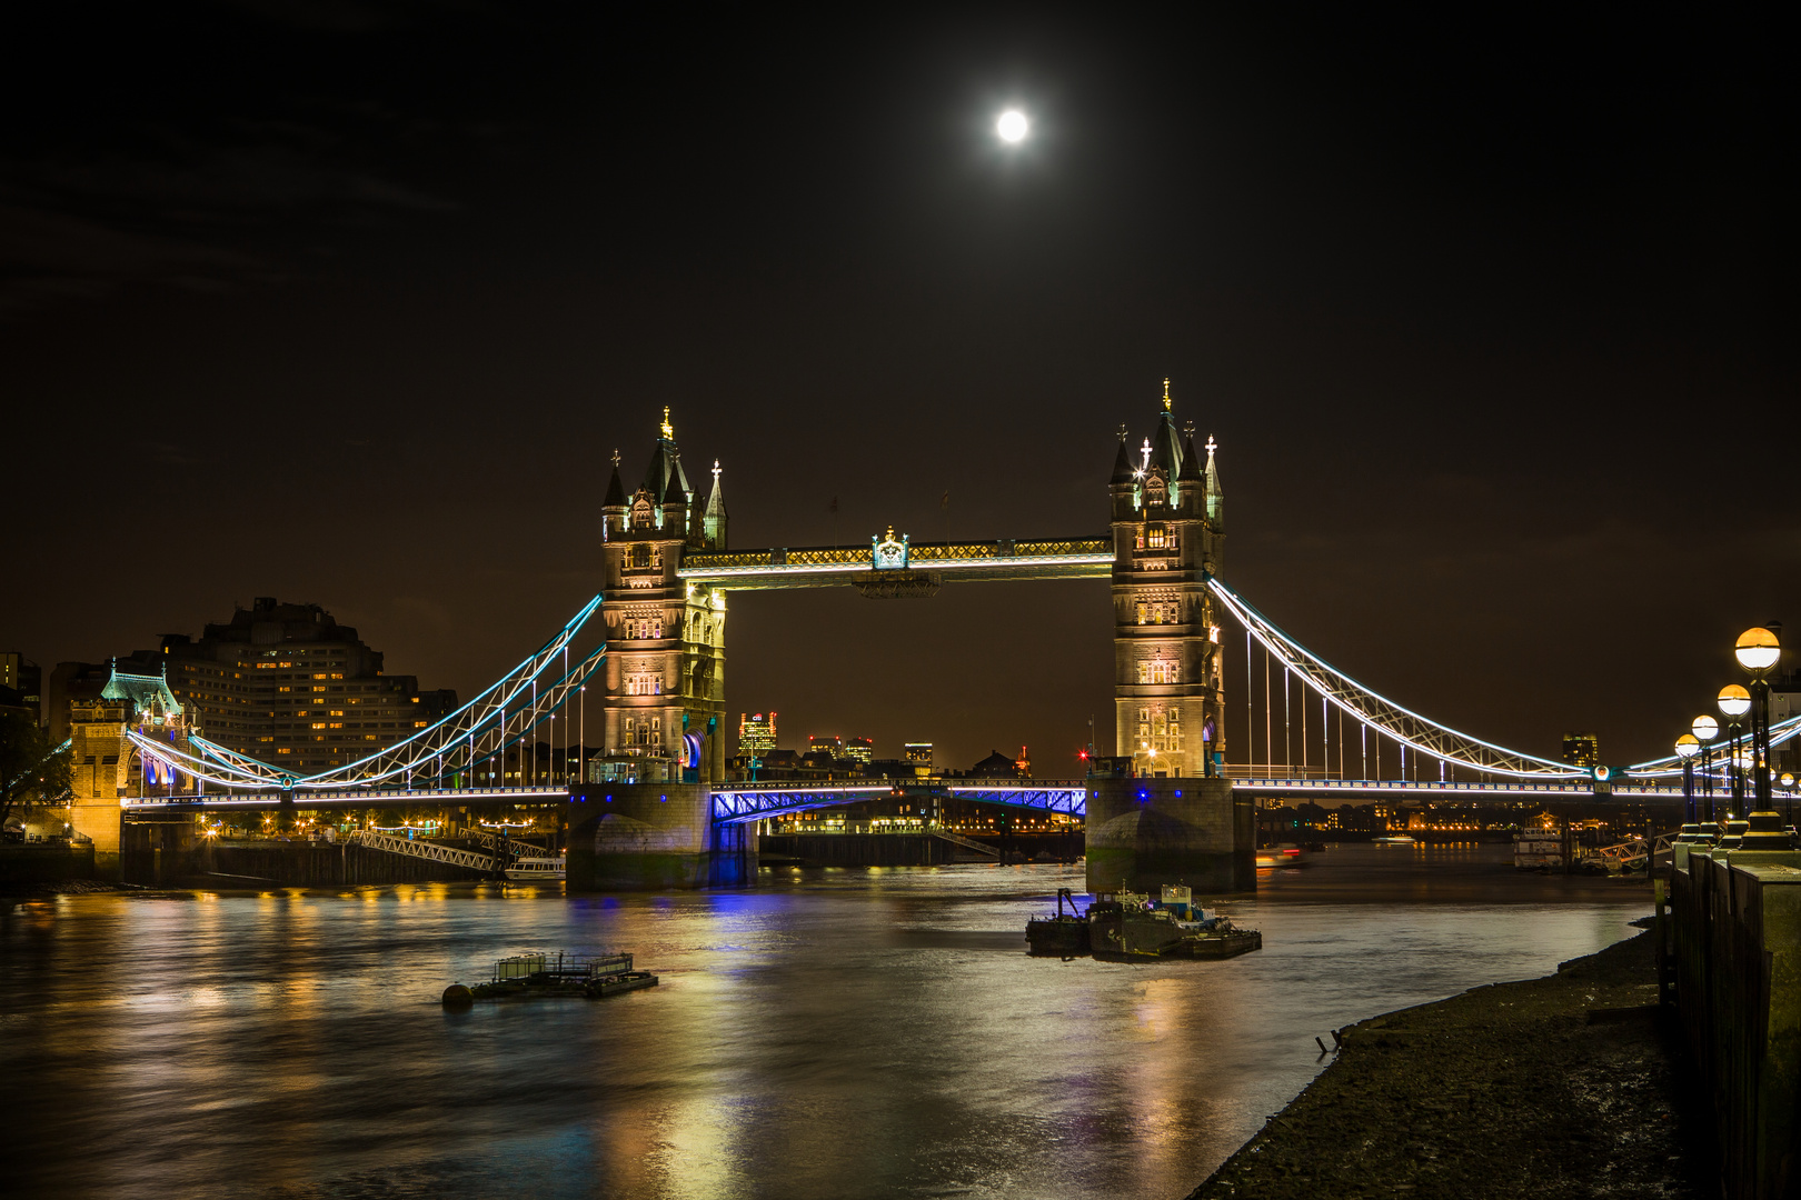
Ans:
[[[1466,799],[1466,801],[1670,801],[1682,799],[1679,786],[1615,783],[1596,788],[1588,781],[1560,783],[1439,783],[1403,779],[1244,779],[1234,777],[1232,790],[1257,797],[1315,801],[1327,808],[1376,799]],[[602,793],[605,784],[575,790]],[[722,783],[713,786],[713,820],[740,824],[814,808],[834,808],[881,797],[955,797],[985,804],[1005,804],[1028,811],[1084,817],[1086,779],[872,779],[828,783]],[[429,804],[562,804],[571,788],[344,788],[333,792],[209,792],[193,795],[128,795],[119,801],[130,822],[166,822],[171,817],[202,811],[268,811],[283,806],[304,810],[333,808],[412,808]],[[1779,795],[1788,801],[1792,795]]]

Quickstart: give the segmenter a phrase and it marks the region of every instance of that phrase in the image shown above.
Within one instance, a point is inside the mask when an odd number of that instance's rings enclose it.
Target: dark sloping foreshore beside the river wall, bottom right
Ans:
[[[1342,1031],[1335,1061],[1189,1200],[1718,1195],[1650,934]]]

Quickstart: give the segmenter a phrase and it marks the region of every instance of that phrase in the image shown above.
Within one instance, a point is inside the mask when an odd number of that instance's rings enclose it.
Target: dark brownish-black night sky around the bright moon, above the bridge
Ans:
[[[1742,628],[1801,635],[1751,13],[9,13],[0,648],[279,596],[468,696],[593,596],[663,405],[737,547],[1091,534],[1171,376],[1290,633],[1524,750],[1668,752]],[[1100,581],[738,594],[728,705],[1066,774],[1109,622]]]

